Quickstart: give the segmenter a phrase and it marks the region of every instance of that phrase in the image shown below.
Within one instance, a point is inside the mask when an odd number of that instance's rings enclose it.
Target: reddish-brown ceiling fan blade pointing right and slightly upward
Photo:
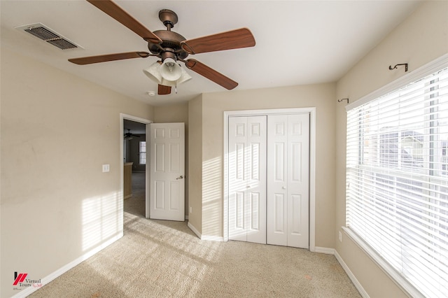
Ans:
[[[181,42],[182,49],[189,54],[248,48],[253,47],[254,45],[255,38],[253,38],[251,31],[247,28],[236,29]]]

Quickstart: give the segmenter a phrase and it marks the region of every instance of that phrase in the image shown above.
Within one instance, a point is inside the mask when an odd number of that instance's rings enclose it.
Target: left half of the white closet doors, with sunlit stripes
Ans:
[[[266,117],[229,118],[229,239],[266,243]]]

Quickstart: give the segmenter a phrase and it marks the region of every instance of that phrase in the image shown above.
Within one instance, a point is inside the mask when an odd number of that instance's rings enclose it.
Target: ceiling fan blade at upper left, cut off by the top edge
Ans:
[[[131,29],[146,41],[151,43],[162,43],[162,40],[153,32],[149,31],[139,21],[135,20],[130,14],[125,12],[123,8],[120,8],[116,3],[110,0],[87,0],[92,5],[102,10],[107,15],[110,15],[115,20]]]

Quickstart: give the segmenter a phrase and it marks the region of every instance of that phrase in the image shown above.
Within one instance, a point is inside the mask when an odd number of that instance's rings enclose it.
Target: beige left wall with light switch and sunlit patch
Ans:
[[[120,113],[153,109],[4,48],[0,71],[0,296],[10,297],[14,271],[44,278],[123,233]]]

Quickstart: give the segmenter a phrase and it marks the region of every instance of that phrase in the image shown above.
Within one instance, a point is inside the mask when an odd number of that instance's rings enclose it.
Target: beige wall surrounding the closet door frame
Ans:
[[[316,107],[316,246],[334,247],[333,83],[202,94],[202,235],[223,236],[224,111],[302,107]]]

